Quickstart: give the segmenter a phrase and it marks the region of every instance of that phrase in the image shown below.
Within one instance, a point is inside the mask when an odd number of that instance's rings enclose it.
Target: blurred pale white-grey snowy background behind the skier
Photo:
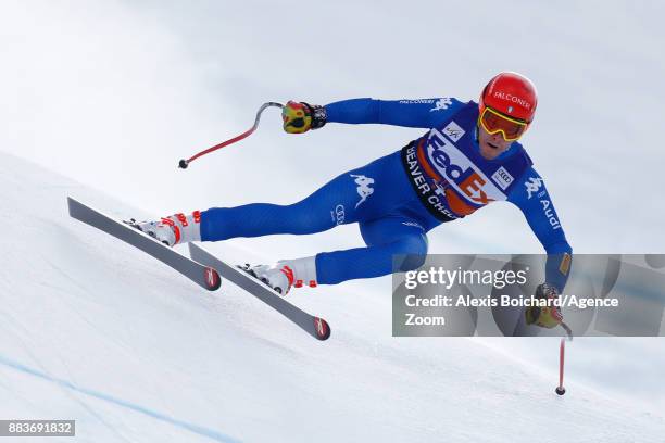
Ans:
[[[657,204],[664,154],[654,131],[665,97],[665,2],[378,4],[86,0],[81,8],[79,0],[5,0],[0,150],[104,189],[151,215],[291,203],[422,130],[330,124],[289,136],[273,110],[242,143],[186,173],[176,162],[246,130],[266,100],[323,104],[449,94],[468,100],[498,71],[518,71],[534,79],[540,96],[524,142],[575,252],[665,251],[662,224],[654,223],[665,218],[665,205]],[[490,205],[428,238],[432,253],[542,252],[510,204]],[[230,244],[273,261],[360,241],[357,228],[346,226]],[[229,243],[212,249],[240,261],[253,256]],[[379,328],[373,331],[387,334],[387,288],[385,279],[349,282],[343,292],[299,294],[298,301],[318,311],[321,298],[332,298],[336,306],[350,306],[343,313],[350,325],[367,320],[371,305],[377,312],[371,320]],[[356,309],[359,299],[367,304]],[[482,343],[528,359],[549,377],[556,366],[556,343]],[[569,353],[572,381],[665,410],[665,384],[657,382],[665,371],[661,338],[586,339]]]

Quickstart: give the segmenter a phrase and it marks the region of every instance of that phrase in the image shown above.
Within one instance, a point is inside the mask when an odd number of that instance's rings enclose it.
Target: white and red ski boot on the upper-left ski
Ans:
[[[146,232],[167,246],[190,241],[201,241],[201,213],[190,215],[175,214],[159,221],[127,221],[130,226]]]

